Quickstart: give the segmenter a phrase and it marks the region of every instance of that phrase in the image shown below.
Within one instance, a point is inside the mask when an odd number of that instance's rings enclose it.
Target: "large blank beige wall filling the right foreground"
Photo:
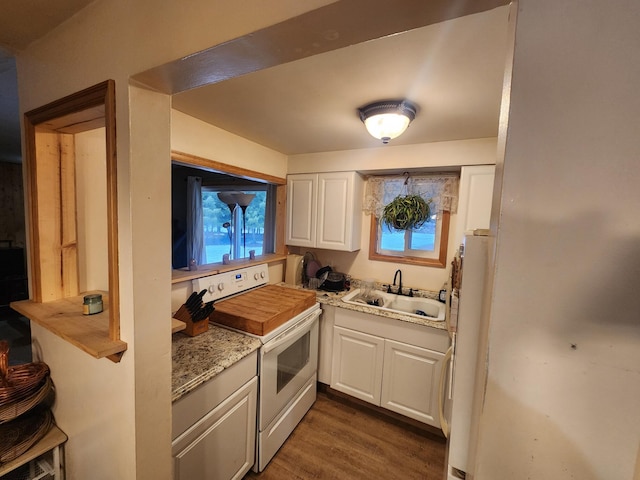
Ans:
[[[477,479],[640,478],[638,25],[519,0]]]

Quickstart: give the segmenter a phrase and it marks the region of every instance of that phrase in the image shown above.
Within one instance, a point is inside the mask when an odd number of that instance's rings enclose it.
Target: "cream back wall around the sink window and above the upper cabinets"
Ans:
[[[364,128],[364,127],[363,127]],[[326,152],[289,157],[289,173],[332,172],[356,170],[382,173],[405,169],[442,167],[460,168],[462,165],[494,164],[496,161],[496,139],[425,143],[421,145],[393,146],[382,148]],[[373,278],[382,283],[391,283],[395,271],[402,270],[402,284],[406,287],[438,291],[447,281],[448,267],[458,248],[458,237],[454,235],[456,215],[451,216],[449,246],[446,268],[399,265],[393,262],[369,260],[369,231],[371,219],[362,213],[361,248],[357,252],[335,252],[330,250],[291,248],[296,253],[312,251],[322,264],[334,270],[349,273],[354,278]]]

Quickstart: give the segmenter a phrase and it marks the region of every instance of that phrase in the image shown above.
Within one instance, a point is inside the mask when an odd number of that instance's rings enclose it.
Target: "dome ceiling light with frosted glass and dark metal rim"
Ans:
[[[384,144],[404,133],[416,111],[416,105],[408,100],[385,100],[358,109],[367,131]]]

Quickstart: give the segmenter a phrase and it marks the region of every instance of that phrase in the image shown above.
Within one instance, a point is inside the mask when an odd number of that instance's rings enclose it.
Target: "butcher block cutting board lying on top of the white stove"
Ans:
[[[315,303],[315,291],[265,285],[216,302],[209,320],[262,336]]]

